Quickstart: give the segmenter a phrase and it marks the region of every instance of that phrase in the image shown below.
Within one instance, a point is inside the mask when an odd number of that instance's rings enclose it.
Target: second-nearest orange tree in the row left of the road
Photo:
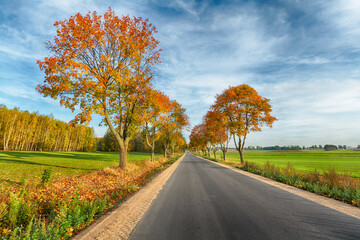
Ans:
[[[148,106],[143,115],[145,126],[145,141],[151,149],[151,161],[155,160],[155,142],[161,136],[161,130],[168,122],[171,103],[168,96],[152,90],[149,94]]]

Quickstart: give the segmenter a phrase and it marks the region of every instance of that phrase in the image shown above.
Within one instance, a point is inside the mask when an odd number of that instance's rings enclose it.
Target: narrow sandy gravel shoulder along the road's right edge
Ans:
[[[197,156],[197,155],[194,155],[194,156]],[[324,196],[320,196],[320,195],[317,195],[317,194],[312,193],[312,192],[308,192],[308,191],[300,189],[300,188],[296,188],[296,187],[293,187],[293,186],[290,186],[290,185],[286,185],[284,183],[280,183],[280,182],[274,181],[274,180],[272,180],[270,178],[266,178],[266,177],[263,177],[263,176],[260,176],[260,175],[254,174],[254,173],[250,173],[250,172],[241,170],[239,168],[234,168],[234,167],[222,164],[222,163],[214,162],[214,161],[211,161],[209,159],[202,158],[200,156],[197,156],[197,157],[199,157],[201,159],[204,159],[206,161],[209,161],[211,163],[220,165],[222,167],[231,169],[231,170],[233,170],[235,172],[241,173],[243,175],[254,178],[254,179],[259,180],[261,182],[267,183],[267,184],[269,184],[271,186],[280,188],[282,190],[285,190],[285,191],[290,192],[292,194],[295,194],[297,196],[303,197],[303,198],[305,198],[307,200],[316,202],[316,203],[321,204],[321,205],[323,205],[325,207],[328,207],[328,208],[331,208],[333,210],[342,212],[342,213],[344,213],[346,215],[349,215],[349,216],[352,216],[354,218],[360,219],[360,208],[358,208],[358,207],[352,206],[350,204],[347,204],[347,203],[344,203],[344,202],[341,202],[341,201],[338,201],[338,200],[335,200],[335,199],[332,199],[332,198],[327,198],[327,197],[324,197]]]

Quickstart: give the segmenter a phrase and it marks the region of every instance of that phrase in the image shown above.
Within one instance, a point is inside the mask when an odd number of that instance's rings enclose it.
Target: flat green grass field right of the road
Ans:
[[[338,173],[360,177],[360,151],[245,151],[244,154],[246,161],[259,165],[269,161],[277,167],[286,167],[287,163],[291,163],[298,172],[317,169],[320,173],[334,167]],[[216,155],[219,158],[222,152]],[[229,162],[240,162],[238,152],[228,152],[226,158]]]

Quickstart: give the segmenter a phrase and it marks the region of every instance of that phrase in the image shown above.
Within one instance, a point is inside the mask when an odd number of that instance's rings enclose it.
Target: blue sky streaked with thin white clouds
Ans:
[[[249,84],[278,118],[246,145],[360,144],[360,1],[0,0],[0,103],[70,121],[35,91],[54,22],[81,12],[149,18],[162,63],[155,87],[201,122],[216,94]],[[95,118],[90,126],[98,136]],[[188,133],[186,133],[188,135]]]

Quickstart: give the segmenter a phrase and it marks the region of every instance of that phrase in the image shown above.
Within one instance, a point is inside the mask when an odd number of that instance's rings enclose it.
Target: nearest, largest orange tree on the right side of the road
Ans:
[[[246,136],[250,132],[260,132],[263,125],[272,127],[276,120],[270,115],[272,109],[269,101],[246,84],[230,86],[216,98],[213,108],[226,116],[227,128],[234,137],[241,163],[245,163]]]

